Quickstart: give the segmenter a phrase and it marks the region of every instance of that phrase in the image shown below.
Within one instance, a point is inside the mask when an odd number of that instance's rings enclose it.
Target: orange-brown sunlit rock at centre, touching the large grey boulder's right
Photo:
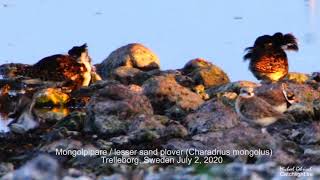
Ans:
[[[187,112],[197,109],[203,103],[200,96],[179,85],[172,75],[153,77],[142,88],[157,114],[164,114],[173,106]]]

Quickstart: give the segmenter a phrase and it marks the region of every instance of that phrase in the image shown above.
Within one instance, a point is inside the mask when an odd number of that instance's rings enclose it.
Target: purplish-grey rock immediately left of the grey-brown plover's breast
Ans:
[[[239,123],[237,114],[221,101],[207,102],[198,112],[189,114],[184,123],[187,124],[190,134],[199,134],[209,131],[220,131],[232,128]],[[211,106],[207,108],[205,106]],[[208,111],[209,110],[209,111]],[[210,111],[211,110],[211,111]]]

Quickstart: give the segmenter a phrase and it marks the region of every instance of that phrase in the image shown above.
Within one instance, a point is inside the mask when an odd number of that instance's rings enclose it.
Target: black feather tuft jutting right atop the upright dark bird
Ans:
[[[277,32],[272,36],[272,38],[276,47],[280,47],[283,50],[299,50],[297,39],[292,34],[282,34]]]

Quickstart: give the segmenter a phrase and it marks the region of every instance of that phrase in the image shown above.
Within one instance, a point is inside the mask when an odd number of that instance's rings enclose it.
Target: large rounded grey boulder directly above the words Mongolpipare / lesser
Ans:
[[[152,115],[153,109],[144,95],[121,84],[109,84],[98,90],[86,109],[86,131],[100,134],[121,134],[128,120],[141,114]]]

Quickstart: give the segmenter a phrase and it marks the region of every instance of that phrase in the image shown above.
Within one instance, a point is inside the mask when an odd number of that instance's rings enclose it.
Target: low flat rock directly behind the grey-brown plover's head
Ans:
[[[224,92],[235,92],[237,94],[240,93],[240,89],[243,87],[257,87],[259,84],[251,82],[251,81],[236,81],[231,82],[225,85],[217,86],[217,87],[211,87],[206,90],[207,94],[212,98],[216,96],[219,93]]]

